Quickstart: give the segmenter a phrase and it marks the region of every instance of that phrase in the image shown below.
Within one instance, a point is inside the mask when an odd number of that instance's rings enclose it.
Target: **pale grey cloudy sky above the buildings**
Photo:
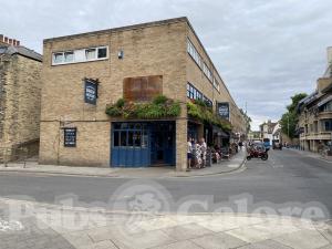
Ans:
[[[186,15],[253,127],[312,92],[332,45],[331,0],[0,0],[0,33],[42,40]]]

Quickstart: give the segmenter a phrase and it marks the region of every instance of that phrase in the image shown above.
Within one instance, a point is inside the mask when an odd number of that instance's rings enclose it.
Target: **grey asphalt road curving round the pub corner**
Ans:
[[[298,210],[300,216],[309,206],[318,206],[324,212],[324,218],[332,214],[331,163],[283,149],[270,152],[268,162],[252,159],[246,167],[246,170],[229,175],[159,178],[149,179],[152,181],[148,184],[155,185],[152,189],[158,189],[156,195],[162,195],[167,203],[165,211],[176,211],[187,201],[191,203],[189,211],[212,211],[228,207],[234,211],[251,212],[258,207],[274,210],[295,207],[301,209]],[[60,196],[74,195],[80,200],[76,206],[93,203],[93,206],[108,204],[114,209],[125,209],[131,191],[139,190],[137,184],[144,184],[145,180],[135,181],[132,190],[122,188],[120,191],[120,187],[128,183],[131,179],[125,178],[0,173],[0,196],[15,199],[28,196],[40,203],[54,204]],[[114,196],[115,191],[120,193]]]

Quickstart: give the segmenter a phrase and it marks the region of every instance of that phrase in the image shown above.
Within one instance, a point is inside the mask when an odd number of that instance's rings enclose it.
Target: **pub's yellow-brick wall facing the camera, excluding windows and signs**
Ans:
[[[46,41],[43,51],[40,163],[110,165],[111,118],[105,114],[105,106],[123,96],[125,77],[163,75],[163,94],[183,103],[179,120],[186,118],[186,22],[179,21]],[[108,45],[108,60],[51,65],[52,52],[97,45]],[[120,50],[124,51],[123,60],[117,58]],[[101,82],[96,106],[84,103],[84,77]],[[59,135],[62,132],[60,122],[77,127],[76,148],[63,147],[63,134]],[[181,123],[178,127],[187,134],[187,127]],[[186,137],[179,137],[183,141],[177,142],[177,148],[184,151]],[[54,147],[54,143],[59,147]],[[183,158],[177,157],[179,167],[184,165],[185,156],[184,151]]]

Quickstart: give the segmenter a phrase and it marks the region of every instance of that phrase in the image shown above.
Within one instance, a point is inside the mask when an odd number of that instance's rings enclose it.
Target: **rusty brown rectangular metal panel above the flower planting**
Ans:
[[[123,97],[127,101],[151,101],[162,93],[162,75],[125,77],[123,81]]]

